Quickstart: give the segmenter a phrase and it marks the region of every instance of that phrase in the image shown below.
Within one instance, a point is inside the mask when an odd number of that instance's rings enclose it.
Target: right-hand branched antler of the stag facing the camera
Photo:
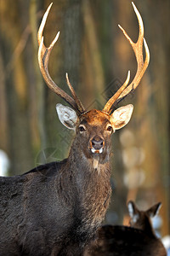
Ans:
[[[136,8],[136,6],[134,5],[133,2],[132,2],[132,4],[133,4],[134,12],[137,15],[137,18],[139,20],[139,38],[138,38],[137,42],[133,43],[132,39],[129,38],[129,36],[127,35],[127,32],[125,32],[125,30],[122,28],[122,26],[119,25],[119,27],[121,28],[121,30],[124,33],[125,37],[127,38],[128,42],[132,45],[134,54],[136,56],[136,61],[138,63],[138,68],[137,68],[137,72],[136,72],[136,75],[135,75],[132,83],[127,86],[127,84],[128,84],[128,79],[127,79],[126,82],[124,84],[122,84],[122,87],[116,91],[116,94],[114,96],[112,96],[108,102],[106,102],[105,108],[103,109],[103,111],[106,113],[111,113],[112,106],[114,103],[120,102],[122,100],[122,98],[127,96],[132,90],[136,89],[136,87],[139,85],[139,82],[142,79],[144,72],[145,72],[146,68],[148,67],[148,64],[150,61],[150,51],[149,51],[148,45],[146,44],[146,41],[144,39],[143,20],[141,18],[141,15],[139,14],[138,9]],[[143,42],[144,42],[144,49],[145,49],[145,60],[143,57]]]

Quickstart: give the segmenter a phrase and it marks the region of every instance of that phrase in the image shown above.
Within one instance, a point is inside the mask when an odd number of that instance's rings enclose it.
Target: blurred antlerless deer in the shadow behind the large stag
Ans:
[[[140,211],[133,201],[127,204],[130,226],[104,225],[96,239],[85,249],[84,256],[166,256],[167,252],[153,230],[151,218],[158,214],[161,203]]]

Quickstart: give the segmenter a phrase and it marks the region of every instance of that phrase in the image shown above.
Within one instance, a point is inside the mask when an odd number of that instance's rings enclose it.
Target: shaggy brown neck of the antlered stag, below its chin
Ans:
[[[80,203],[82,219],[91,228],[99,226],[105,218],[105,212],[111,198],[110,152],[105,158],[94,155],[88,158],[74,141],[68,158],[74,172],[77,200]]]

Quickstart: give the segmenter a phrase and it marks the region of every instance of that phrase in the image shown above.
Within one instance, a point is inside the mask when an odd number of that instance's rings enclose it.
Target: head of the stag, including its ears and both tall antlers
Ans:
[[[121,129],[124,125],[127,125],[133,113],[133,105],[131,104],[118,108],[112,113],[113,106],[115,106],[117,102],[120,102],[138,86],[140,79],[142,79],[144,71],[149,64],[150,53],[144,40],[144,26],[142,18],[139,15],[138,9],[136,9],[135,5],[133,4],[133,9],[139,20],[139,38],[137,43],[133,43],[131,38],[127,36],[127,33],[120,26],[128,42],[132,45],[138,63],[137,73],[132,83],[128,84],[130,79],[130,72],[128,72],[125,83],[122,84],[121,88],[116,91],[116,94],[112,96],[108,102],[106,102],[103,110],[92,109],[87,111],[83,107],[82,102],[79,100],[75,90],[71,86],[67,73],[66,81],[71,90],[72,96],[69,96],[64,90],[61,90],[59,86],[54,83],[48,73],[49,55],[54,47],[54,44],[59,38],[58,32],[54,38],[54,41],[49,45],[48,48],[46,48],[43,44],[42,32],[51,5],[52,3],[49,5],[46,13],[43,15],[42,23],[37,33],[37,40],[39,44],[38,61],[42,76],[48,84],[48,87],[51,90],[54,90],[58,96],[62,97],[65,102],[71,105],[71,108],[69,108],[61,104],[57,104],[56,110],[61,123],[67,128],[77,131],[77,141],[79,141],[79,144],[83,145],[82,150],[84,151],[84,154],[88,158],[93,157],[94,155],[104,156],[108,152],[107,148],[111,142],[111,134],[114,131]],[[143,58],[143,44],[145,49],[145,60]]]

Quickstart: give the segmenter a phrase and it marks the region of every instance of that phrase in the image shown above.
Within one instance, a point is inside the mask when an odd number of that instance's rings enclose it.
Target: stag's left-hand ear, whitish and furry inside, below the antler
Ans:
[[[56,110],[59,116],[59,121],[65,125],[65,127],[75,130],[78,119],[77,113],[73,109],[63,106],[62,104],[57,104]]]

